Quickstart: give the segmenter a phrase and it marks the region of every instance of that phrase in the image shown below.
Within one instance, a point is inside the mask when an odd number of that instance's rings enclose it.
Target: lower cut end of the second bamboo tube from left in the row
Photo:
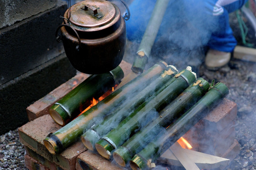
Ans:
[[[81,136],[81,140],[83,145],[91,150],[94,151],[94,144],[100,139],[100,136],[94,131],[89,129],[88,131],[86,131],[82,136]]]

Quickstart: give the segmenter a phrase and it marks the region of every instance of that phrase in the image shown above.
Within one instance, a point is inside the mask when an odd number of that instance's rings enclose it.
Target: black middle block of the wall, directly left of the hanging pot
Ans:
[[[4,0],[4,3],[9,1],[27,3],[31,0]],[[63,22],[59,16],[66,9],[66,3],[58,0],[54,8],[0,29],[0,85],[64,52],[62,43],[56,42],[55,31]]]

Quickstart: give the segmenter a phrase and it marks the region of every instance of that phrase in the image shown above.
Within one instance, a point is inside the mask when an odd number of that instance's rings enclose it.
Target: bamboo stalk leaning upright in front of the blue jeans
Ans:
[[[146,31],[143,34],[140,42],[136,59],[131,68],[135,73],[142,73],[146,66],[152,46],[155,42],[155,37],[164,18],[168,2],[169,0],[157,0],[155,3],[155,7],[147,24]]]

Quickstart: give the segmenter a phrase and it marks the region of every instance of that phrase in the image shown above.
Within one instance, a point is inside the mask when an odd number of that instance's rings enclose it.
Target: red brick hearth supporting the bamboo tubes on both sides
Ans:
[[[130,65],[124,61],[121,63],[121,68],[125,71],[125,75],[130,70]],[[74,88],[74,80],[82,82],[85,75],[77,75],[67,83],[61,85],[53,92],[47,94],[44,98],[35,102],[27,108],[28,117],[31,120],[27,124],[18,129],[19,137],[26,149],[25,163],[29,170],[121,170],[118,165],[105,160],[97,153],[87,151],[79,140],[75,144],[68,147],[64,152],[56,155],[50,154],[43,144],[45,137],[55,132],[61,127],[47,114],[48,109],[56,100],[64,96],[68,91]],[[65,89],[65,90],[61,90]],[[62,93],[62,94],[60,94]],[[58,98],[58,99],[57,99]],[[50,100],[47,100],[50,99]],[[54,99],[54,100],[53,100]],[[221,113],[221,114],[220,114]],[[194,144],[195,138],[191,136],[206,136],[207,140],[215,140],[214,147],[221,147],[222,151],[218,156],[232,158],[239,152],[239,144],[234,140],[234,128],[228,128],[234,124],[237,114],[237,107],[234,102],[225,99],[218,107],[210,111],[210,113],[193,127],[184,137],[192,140],[192,146],[195,149],[202,146]],[[37,116],[40,116],[37,118]],[[37,118],[37,119],[35,119]],[[226,126],[227,125],[227,126]],[[207,130],[208,127],[215,127],[214,130]],[[213,133],[213,132],[214,133]],[[224,134],[219,134],[223,133]],[[193,135],[191,135],[193,132]],[[202,133],[203,132],[203,133]],[[196,135],[194,133],[197,133]],[[230,134],[230,136],[229,136]],[[222,136],[225,140],[232,140],[233,144],[222,147],[217,141],[218,136]],[[199,139],[199,137],[197,137]],[[230,143],[229,143],[230,144]],[[217,151],[216,151],[217,152]]]

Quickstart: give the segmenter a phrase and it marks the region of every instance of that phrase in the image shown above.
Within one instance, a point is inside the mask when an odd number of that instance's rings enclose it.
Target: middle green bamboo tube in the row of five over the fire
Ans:
[[[122,120],[119,125],[112,129],[107,135],[95,144],[98,153],[106,159],[110,159],[111,152],[123,144],[129,136],[139,128],[146,125],[158,114],[156,111],[163,109],[169,102],[183,92],[196,78],[191,71],[183,70],[169,80],[154,95],[141,104],[126,119]]]

